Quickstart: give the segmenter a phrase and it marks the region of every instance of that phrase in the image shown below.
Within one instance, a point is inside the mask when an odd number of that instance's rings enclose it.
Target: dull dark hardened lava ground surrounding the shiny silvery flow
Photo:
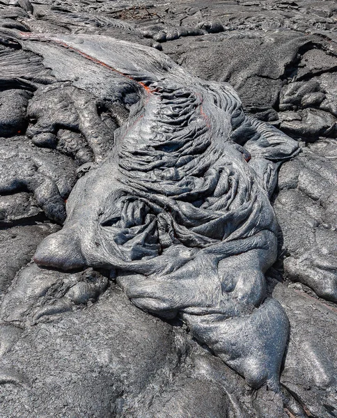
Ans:
[[[251,389],[178,320],[134,307],[104,270],[31,262],[64,215],[49,208],[54,187],[67,199],[100,155],[88,137],[108,138],[126,116],[98,99],[94,72],[97,94],[84,95],[76,68],[60,80],[0,36],[0,417],[337,417],[336,3],[1,0],[0,26],[155,47],[232,84],[246,112],[301,146],[272,197],[279,259],[268,290],[291,326],[281,396]]]

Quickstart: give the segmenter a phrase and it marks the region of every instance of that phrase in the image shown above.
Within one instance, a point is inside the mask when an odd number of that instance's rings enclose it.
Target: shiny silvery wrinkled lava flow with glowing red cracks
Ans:
[[[249,385],[278,392],[288,318],[265,292],[276,260],[269,196],[297,141],[245,116],[229,84],[198,79],[153,48],[95,35],[15,40],[52,69],[53,54],[65,63],[77,54],[84,72],[95,63],[138,96],[34,261],[116,270],[137,307],[179,315]],[[66,77],[67,66],[56,71]]]

